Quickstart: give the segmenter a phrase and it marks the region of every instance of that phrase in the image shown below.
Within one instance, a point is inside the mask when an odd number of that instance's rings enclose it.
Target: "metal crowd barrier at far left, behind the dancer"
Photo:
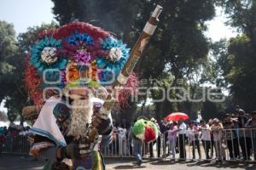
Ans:
[[[27,136],[6,136],[1,152],[14,155],[28,155],[30,144]]]

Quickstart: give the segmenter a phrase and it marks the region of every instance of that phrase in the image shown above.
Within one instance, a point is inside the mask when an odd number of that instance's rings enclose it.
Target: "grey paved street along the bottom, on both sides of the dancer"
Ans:
[[[244,165],[236,163],[223,163],[216,164],[215,162],[204,163],[204,162],[183,162],[183,163],[170,163],[161,161],[144,161],[142,167],[136,167],[132,164],[132,159],[108,159],[107,169],[143,169],[143,170],[188,170],[188,168],[194,168],[196,170],[255,170],[256,166]],[[44,161],[32,161],[30,157],[24,156],[0,156],[0,170],[39,170],[42,169]]]

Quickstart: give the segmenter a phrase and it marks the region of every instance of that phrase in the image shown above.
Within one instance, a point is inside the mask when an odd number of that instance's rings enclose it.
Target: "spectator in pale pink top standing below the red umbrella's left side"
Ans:
[[[170,122],[170,130],[168,130],[168,140],[169,140],[169,150],[170,150],[170,156],[172,156],[171,161],[175,161],[175,145],[176,145],[176,139],[177,139],[177,126],[174,126],[174,123]]]

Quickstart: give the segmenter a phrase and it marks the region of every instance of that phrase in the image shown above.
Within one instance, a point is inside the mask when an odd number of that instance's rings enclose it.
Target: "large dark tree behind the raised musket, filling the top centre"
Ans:
[[[155,5],[162,5],[164,10],[158,29],[137,65],[140,78],[163,82],[172,75],[174,80],[168,86],[179,86],[179,79],[195,72],[207,60],[210,42],[203,31],[207,29],[205,21],[211,20],[215,14],[212,0],[52,1],[55,3],[55,18],[61,24],[67,24],[72,14],[81,21],[100,20],[101,25],[99,22],[92,24],[113,31],[131,47]],[[166,86],[165,83],[162,85]],[[154,97],[159,95],[157,91],[152,94]],[[159,119],[176,107],[167,100],[154,106]],[[183,109],[183,105],[179,108]]]

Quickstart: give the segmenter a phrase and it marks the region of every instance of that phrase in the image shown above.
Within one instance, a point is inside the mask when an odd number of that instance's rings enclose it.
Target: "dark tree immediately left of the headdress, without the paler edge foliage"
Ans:
[[[9,52],[9,57],[6,62],[11,65],[11,70],[5,72],[3,77],[1,77],[1,86],[4,90],[1,90],[3,98],[6,100],[5,106],[8,108],[8,116],[11,119],[20,116],[20,122],[23,122],[21,116],[22,108],[28,104],[28,98],[26,94],[25,84],[23,82],[25,70],[25,59],[28,55],[27,52],[30,50],[32,43],[35,38],[38,37],[38,33],[44,29],[53,28],[56,26],[55,22],[49,25],[43,24],[42,26],[30,27],[25,33],[20,34],[17,37],[17,42],[15,44],[15,51],[13,53]],[[4,36],[8,38],[8,36]],[[15,41],[15,35],[12,35],[13,41]],[[8,48],[4,48],[7,50]],[[10,48],[11,49],[11,48]],[[1,62],[0,64],[3,64]],[[2,98],[2,99],[3,99]],[[1,100],[2,100],[1,99]]]

